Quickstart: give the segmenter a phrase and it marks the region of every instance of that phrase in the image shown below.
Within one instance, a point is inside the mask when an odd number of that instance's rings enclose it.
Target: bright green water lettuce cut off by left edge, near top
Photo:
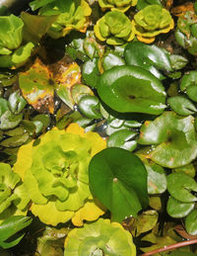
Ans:
[[[0,67],[19,67],[32,54],[34,44],[23,43],[24,22],[11,14],[0,16]]]

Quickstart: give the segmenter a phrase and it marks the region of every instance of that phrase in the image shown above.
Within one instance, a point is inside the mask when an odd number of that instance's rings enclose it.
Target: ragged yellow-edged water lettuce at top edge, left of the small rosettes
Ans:
[[[33,11],[41,7],[38,12],[41,16],[57,16],[47,32],[53,39],[65,37],[72,30],[86,32],[90,24],[92,9],[85,0],[35,0],[30,5]]]

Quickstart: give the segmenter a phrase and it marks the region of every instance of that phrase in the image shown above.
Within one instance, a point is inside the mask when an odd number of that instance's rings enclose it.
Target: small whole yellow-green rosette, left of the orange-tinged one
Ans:
[[[99,41],[118,45],[134,39],[134,30],[129,18],[119,12],[110,11],[102,16],[94,27]]]

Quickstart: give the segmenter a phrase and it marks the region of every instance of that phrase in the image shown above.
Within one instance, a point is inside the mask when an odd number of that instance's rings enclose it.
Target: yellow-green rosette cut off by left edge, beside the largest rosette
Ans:
[[[30,202],[21,177],[0,163],[0,223],[11,215],[24,215]]]

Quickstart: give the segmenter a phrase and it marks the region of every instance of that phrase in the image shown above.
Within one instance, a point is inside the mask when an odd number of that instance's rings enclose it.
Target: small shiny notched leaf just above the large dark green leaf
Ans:
[[[121,147],[129,151],[133,151],[137,142],[134,140],[137,132],[129,129],[120,129],[113,132],[107,139],[108,147]]]

